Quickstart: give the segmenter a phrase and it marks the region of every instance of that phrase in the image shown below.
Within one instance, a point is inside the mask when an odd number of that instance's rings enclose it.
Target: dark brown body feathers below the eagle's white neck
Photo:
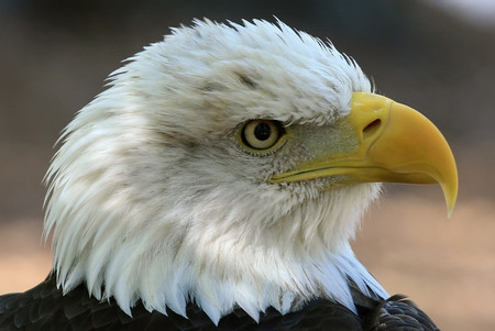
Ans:
[[[304,309],[282,316],[268,308],[256,323],[238,308],[216,327],[196,305],[187,307],[188,319],[168,310],[168,316],[148,312],[141,302],[132,318],[113,300],[90,297],[85,286],[65,296],[55,277],[23,294],[0,297],[0,330],[438,330],[413,302],[402,296],[386,301],[354,294],[359,315],[324,299],[315,299]],[[361,305],[362,304],[362,305]]]

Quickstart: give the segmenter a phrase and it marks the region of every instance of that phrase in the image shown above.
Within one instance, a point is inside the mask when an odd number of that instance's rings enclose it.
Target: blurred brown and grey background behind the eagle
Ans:
[[[329,37],[381,93],[444,133],[460,172],[453,217],[439,187],[387,186],[356,255],[443,330],[495,330],[495,5],[430,2],[0,0],[0,294],[25,290],[50,271],[41,180],[61,130],[108,74],[193,18],[275,15]]]

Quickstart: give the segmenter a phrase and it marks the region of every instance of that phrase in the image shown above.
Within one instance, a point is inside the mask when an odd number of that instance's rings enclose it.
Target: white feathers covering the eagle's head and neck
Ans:
[[[141,299],[185,315],[194,300],[216,322],[235,305],[257,319],[320,296],[355,310],[348,279],[386,296],[349,244],[380,186],[271,185],[298,151],[261,157],[235,139],[258,118],[331,124],[370,90],[353,60],[282,22],[173,30],[62,137],[45,221],[59,286],[85,283],[128,313]]]

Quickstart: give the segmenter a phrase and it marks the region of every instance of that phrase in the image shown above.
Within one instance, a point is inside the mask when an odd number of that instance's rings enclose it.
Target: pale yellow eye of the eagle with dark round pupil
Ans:
[[[273,147],[282,137],[284,129],[280,123],[272,120],[253,120],[241,131],[241,140],[248,147],[256,151]]]

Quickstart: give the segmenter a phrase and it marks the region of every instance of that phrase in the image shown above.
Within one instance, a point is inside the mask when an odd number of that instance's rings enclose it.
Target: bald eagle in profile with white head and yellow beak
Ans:
[[[110,76],[46,183],[54,263],[0,330],[436,330],[350,246],[384,181],[441,185],[438,129],[282,22],[195,21]]]

